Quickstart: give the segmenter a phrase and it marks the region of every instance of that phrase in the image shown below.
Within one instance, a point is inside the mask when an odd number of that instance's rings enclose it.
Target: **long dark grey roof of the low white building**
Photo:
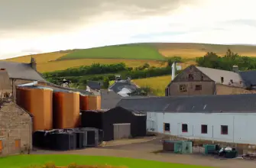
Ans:
[[[122,99],[117,106],[156,112],[256,112],[256,94]]]

